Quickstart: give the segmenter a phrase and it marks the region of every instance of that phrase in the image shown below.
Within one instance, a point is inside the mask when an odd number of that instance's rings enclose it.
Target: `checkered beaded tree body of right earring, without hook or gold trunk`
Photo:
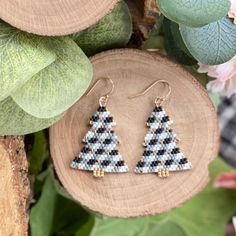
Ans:
[[[191,162],[180,152],[176,134],[170,129],[167,113],[161,106],[156,106],[147,120],[149,130],[144,139],[144,152],[138,162],[136,173],[188,170]]]

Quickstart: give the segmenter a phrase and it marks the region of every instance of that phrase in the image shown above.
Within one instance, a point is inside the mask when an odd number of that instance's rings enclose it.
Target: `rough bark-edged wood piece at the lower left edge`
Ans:
[[[22,137],[1,137],[0,159],[0,235],[28,235],[28,163]]]

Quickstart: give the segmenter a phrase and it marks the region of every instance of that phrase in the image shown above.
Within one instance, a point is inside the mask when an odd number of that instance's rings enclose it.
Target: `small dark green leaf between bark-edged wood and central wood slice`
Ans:
[[[43,131],[34,134],[33,149],[29,154],[31,174],[37,175],[42,169],[43,162],[48,157],[47,140]]]

